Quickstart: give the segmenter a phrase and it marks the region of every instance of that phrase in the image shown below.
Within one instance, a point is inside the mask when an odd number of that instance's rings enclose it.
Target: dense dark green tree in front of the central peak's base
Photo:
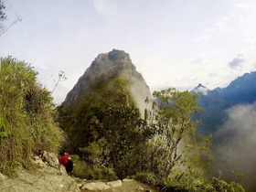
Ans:
[[[142,123],[139,110],[132,106],[110,106],[105,112],[101,135],[107,142],[108,164],[120,178],[136,171],[136,149],[145,141]]]

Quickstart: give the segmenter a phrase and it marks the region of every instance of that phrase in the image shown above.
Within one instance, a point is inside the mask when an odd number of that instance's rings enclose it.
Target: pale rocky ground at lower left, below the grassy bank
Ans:
[[[76,181],[68,176],[65,167],[59,165],[57,155],[43,152],[35,157],[34,163],[40,168],[25,170],[19,168],[15,178],[0,173],[1,192],[79,192]]]

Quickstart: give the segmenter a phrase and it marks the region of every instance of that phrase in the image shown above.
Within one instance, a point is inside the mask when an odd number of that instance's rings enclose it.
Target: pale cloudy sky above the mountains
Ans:
[[[117,48],[130,54],[151,91],[225,87],[256,70],[255,0],[5,0],[16,23],[0,37],[0,57],[31,63],[65,100],[91,61]]]

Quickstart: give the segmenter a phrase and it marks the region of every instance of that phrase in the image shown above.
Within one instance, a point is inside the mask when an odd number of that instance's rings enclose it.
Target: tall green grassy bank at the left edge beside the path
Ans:
[[[11,57],[0,65],[0,171],[27,166],[34,153],[59,152],[64,134],[53,121],[51,93],[37,83],[37,72]]]

